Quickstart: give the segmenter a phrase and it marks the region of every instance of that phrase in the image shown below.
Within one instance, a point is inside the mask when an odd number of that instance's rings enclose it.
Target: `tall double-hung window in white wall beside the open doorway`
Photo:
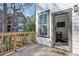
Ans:
[[[48,26],[48,11],[45,11],[39,15],[39,36],[40,37],[48,37],[47,26]]]

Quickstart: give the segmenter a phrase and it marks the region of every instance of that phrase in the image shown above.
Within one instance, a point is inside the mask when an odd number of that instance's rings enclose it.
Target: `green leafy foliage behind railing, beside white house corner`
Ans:
[[[26,31],[35,31],[35,16],[32,16],[27,19],[25,28]]]

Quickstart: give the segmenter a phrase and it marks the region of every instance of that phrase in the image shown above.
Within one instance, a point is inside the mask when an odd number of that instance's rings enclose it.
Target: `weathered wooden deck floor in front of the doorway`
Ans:
[[[69,54],[57,48],[50,48],[40,44],[29,44],[16,52],[6,54],[5,56],[78,56]]]

